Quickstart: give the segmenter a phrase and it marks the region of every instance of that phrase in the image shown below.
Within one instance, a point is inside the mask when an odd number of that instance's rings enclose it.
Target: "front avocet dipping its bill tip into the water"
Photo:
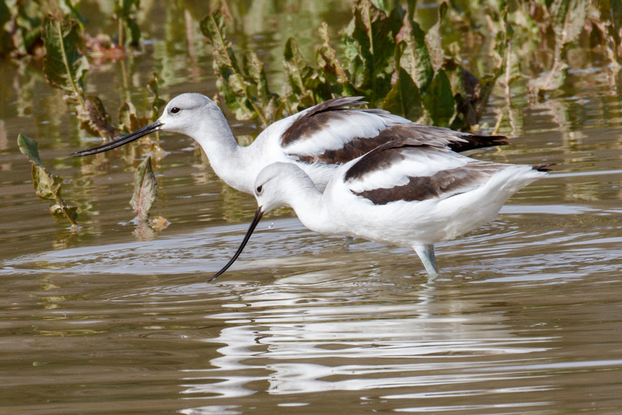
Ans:
[[[274,163],[257,176],[259,207],[234,257],[265,212],[294,208],[310,230],[413,248],[430,277],[438,275],[434,244],[487,223],[521,187],[547,175],[540,165],[474,160],[435,140],[387,142],[339,167],[326,190],[292,163]]]

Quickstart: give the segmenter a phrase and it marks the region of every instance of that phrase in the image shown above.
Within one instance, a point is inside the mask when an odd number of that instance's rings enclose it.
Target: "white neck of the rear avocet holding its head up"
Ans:
[[[255,177],[261,166],[256,163],[258,155],[251,156],[251,146],[238,145],[227,119],[220,112],[202,118],[197,127],[187,135],[194,138],[205,151],[218,177],[234,189],[252,194]]]

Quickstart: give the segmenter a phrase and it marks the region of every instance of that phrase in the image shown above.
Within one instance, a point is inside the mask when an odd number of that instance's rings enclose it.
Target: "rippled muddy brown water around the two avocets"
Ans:
[[[185,41],[156,42],[133,76],[168,65],[165,98],[214,95],[207,53],[189,57]],[[122,85],[109,65],[91,79]],[[189,138],[163,135],[153,214],[171,225],[135,225],[140,151],[67,158],[96,140],[42,80],[24,89],[27,68],[3,71],[1,413],[622,413],[622,83],[608,68],[571,73],[537,102],[520,84],[511,107],[493,98],[484,121],[504,113],[501,132],[516,138],[473,156],[560,165],[492,223],[440,244],[436,281],[409,250],[347,245],[283,210],[209,284],[254,199],[220,182]],[[105,84],[91,89],[117,104]],[[240,140],[256,134],[229,120]],[[20,132],[66,178],[78,234],[33,194]]]

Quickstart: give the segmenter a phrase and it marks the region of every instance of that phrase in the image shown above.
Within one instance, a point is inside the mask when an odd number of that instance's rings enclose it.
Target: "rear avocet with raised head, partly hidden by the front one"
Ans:
[[[257,174],[272,163],[296,163],[320,190],[334,169],[396,138],[435,140],[453,151],[507,144],[504,136],[475,136],[451,129],[415,124],[380,109],[348,108],[361,98],[336,98],[274,122],[248,147],[237,144],[218,105],[198,93],[173,98],[162,116],[119,140],[72,156],[87,156],[120,147],[155,131],[194,138],[214,172],[231,187],[253,193]]]

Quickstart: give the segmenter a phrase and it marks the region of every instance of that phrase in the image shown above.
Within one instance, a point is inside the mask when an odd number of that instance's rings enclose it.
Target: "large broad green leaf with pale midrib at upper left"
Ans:
[[[48,84],[75,98],[82,96],[88,62],[78,51],[82,42],[79,24],[73,19],[58,21],[47,17],[43,39],[46,46],[44,73]]]

